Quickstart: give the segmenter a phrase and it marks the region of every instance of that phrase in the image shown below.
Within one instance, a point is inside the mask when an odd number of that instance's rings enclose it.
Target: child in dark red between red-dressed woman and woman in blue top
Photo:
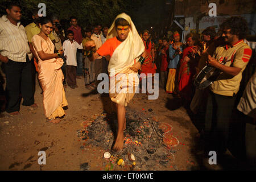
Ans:
[[[166,86],[166,81],[167,81],[167,68],[168,68],[168,61],[170,60],[169,58],[169,44],[168,44],[168,38],[163,38],[163,48],[159,52],[161,55],[161,64],[160,64],[160,82],[159,86],[160,87],[165,87]]]

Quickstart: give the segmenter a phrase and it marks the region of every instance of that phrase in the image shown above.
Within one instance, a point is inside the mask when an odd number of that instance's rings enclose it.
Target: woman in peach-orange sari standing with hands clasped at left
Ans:
[[[32,44],[38,58],[38,78],[43,89],[43,107],[47,121],[59,123],[65,115],[64,106],[68,105],[63,88],[63,72],[61,67],[63,50],[54,53],[54,44],[48,38],[52,31],[52,22],[46,17],[40,19],[41,31],[32,37]],[[59,117],[59,118],[57,118]]]

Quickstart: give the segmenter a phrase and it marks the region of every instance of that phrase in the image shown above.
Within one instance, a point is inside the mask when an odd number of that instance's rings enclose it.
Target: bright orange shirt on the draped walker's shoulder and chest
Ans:
[[[106,42],[96,51],[100,56],[108,56],[110,57],[113,55],[115,49],[121,44],[122,42],[117,39],[117,37],[111,38],[106,40]]]

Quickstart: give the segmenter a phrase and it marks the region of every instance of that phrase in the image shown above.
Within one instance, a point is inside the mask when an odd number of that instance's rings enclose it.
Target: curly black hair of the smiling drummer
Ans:
[[[248,25],[242,16],[232,16],[221,24],[221,30],[231,29],[230,34],[237,35],[239,39],[244,39],[248,32]]]

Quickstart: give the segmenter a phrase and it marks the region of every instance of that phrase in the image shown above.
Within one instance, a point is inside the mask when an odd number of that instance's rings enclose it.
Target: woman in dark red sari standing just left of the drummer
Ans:
[[[186,36],[187,48],[183,51],[179,69],[179,92],[185,101],[192,100],[193,82],[192,78],[196,74],[196,66],[200,58],[201,43],[199,36],[189,33]]]

